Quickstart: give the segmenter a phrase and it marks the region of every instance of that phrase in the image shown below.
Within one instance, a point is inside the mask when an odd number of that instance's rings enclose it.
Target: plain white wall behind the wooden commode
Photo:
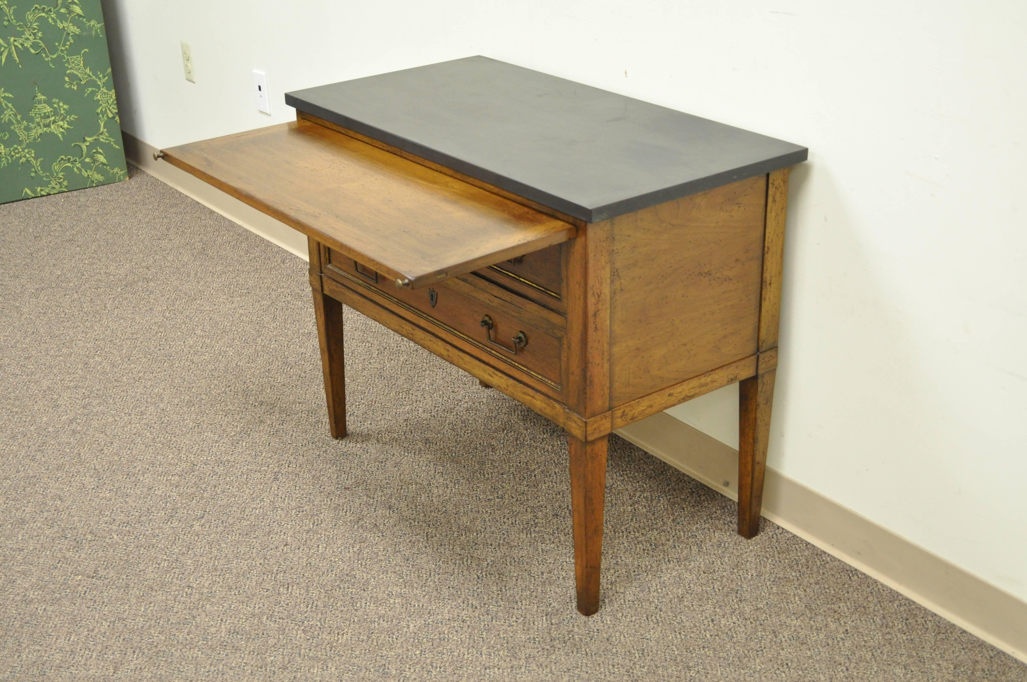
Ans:
[[[123,126],[158,147],[477,53],[808,146],[769,463],[1027,600],[1027,4],[104,4]],[[736,445],[735,401],[672,413]]]

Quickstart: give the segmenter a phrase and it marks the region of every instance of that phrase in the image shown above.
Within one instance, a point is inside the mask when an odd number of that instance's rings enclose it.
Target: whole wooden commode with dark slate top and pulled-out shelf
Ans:
[[[805,148],[482,56],[287,103],[294,122],[161,155],[308,236],[334,437],[343,305],[560,424],[591,615],[608,435],[740,382],[738,532],[757,533]]]

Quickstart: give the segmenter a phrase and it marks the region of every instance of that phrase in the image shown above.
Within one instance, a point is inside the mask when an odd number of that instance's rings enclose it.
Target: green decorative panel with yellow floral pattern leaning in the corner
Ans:
[[[0,203],[127,177],[100,0],[0,0]]]

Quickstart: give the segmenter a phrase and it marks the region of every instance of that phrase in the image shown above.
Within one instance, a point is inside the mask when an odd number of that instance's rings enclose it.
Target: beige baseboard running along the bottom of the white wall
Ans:
[[[122,134],[137,166],[282,249],[307,260],[307,238],[290,226],[180,170]],[[737,500],[738,452],[659,413],[617,434]],[[767,468],[763,516],[966,632],[1027,662],[1027,603],[886,528]]]

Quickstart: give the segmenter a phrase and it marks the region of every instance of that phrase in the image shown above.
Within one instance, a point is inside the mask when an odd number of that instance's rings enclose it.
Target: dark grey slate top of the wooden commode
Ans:
[[[805,147],[486,56],[286,104],[586,222],[806,160]]]

